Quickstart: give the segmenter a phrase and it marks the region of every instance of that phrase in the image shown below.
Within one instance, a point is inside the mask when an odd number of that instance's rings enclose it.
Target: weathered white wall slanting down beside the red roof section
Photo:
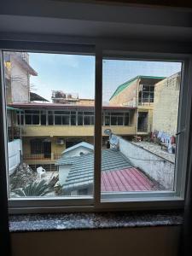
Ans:
[[[172,162],[164,161],[160,156],[152,154],[148,150],[120,137],[119,150],[131,160],[134,166],[141,168],[166,189],[173,189],[175,165]]]

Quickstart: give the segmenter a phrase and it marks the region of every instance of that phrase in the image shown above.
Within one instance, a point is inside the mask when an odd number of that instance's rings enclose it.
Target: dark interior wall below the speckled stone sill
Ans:
[[[180,226],[12,233],[13,256],[177,256]]]

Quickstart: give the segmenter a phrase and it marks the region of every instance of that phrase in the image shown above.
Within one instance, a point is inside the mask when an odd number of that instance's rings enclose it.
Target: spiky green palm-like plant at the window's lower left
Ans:
[[[44,196],[53,191],[52,186],[43,179],[40,183],[34,182],[24,188],[13,190],[15,196]]]

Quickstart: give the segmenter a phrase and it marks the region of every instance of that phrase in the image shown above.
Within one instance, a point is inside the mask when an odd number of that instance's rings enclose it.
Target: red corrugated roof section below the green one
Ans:
[[[102,172],[102,192],[150,191],[160,189],[135,167]]]

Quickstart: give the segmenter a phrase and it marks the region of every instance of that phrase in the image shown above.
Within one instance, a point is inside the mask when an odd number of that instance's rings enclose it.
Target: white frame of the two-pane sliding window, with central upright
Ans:
[[[38,52],[37,48],[33,49],[27,48],[28,46],[22,43],[19,44],[21,47],[15,49],[1,49],[1,67],[3,67],[3,50],[15,50],[15,51],[28,51],[28,52]],[[13,42],[14,46],[14,42]],[[39,49],[42,48],[42,45],[39,46]],[[125,49],[124,49],[125,48]],[[47,49],[47,47],[45,48]],[[72,47],[69,47],[69,51],[76,54],[79,52],[73,51]],[[142,52],[128,52],[127,47],[115,47],[114,49],[102,49],[102,44],[96,44],[96,90],[95,90],[95,160],[94,160],[94,195],[91,196],[80,196],[77,197],[65,197],[65,198],[19,198],[19,199],[9,199],[9,212],[11,213],[26,213],[26,212],[72,212],[72,211],[101,211],[101,210],[132,210],[132,209],[153,209],[153,208],[175,208],[183,207],[184,201],[184,189],[185,189],[185,176],[187,170],[187,154],[183,152],[188,152],[189,148],[189,116],[190,116],[190,105],[191,105],[191,96],[192,96],[192,86],[189,84],[192,83],[192,57],[191,55],[184,54],[162,54],[162,53],[146,53]],[[121,51],[117,50],[121,49]],[[84,47],[83,50],[84,52]],[[39,52],[43,52],[39,50]],[[88,51],[89,52],[89,51]],[[46,53],[61,53],[69,54],[68,50],[61,46],[59,50],[46,50]],[[79,52],[79,54],[81,54]],[[83,53],[84,54],[84,53]],[[90,55],[93,52],[90,53]],[[177,169],[179,172],[176,172],[175,184],[177,184],[177,190],[174,192],[129,192],[129,193],[118,193],[115,196],[111,193],[107,196],[101,198],[101,149],[102,149],[102,59],[105,57],[110,57],[113,59],[122,58],[127,60],[140,60],[140,61],[182,61],[183,70],[182,70],[182,84],[183,89],[180,93],[180,108],[179,108],[179,126],[178,131],[180,135],[178,137],[179,157],[177,158]],[[3,74],[3,72],[2,72]],[[4,93],[4,78],[2,76],[2,95],[3,102],[5,101]],[[3,106],[3,115],[4,124],[6,124],[6,109],[5,104]],[[5,129],[6,131],[6,129]],[[5,133],[6,136],[6,133]],[[6,161],[7,157],[7,145],[4,145],[4,156]],[[8,170],[8,165],[6,166]],[[8,171],[7,171],[8,172]],[[8,173],[7,173],[7,177]],[[9,178],[8,178],[9,183]]]

